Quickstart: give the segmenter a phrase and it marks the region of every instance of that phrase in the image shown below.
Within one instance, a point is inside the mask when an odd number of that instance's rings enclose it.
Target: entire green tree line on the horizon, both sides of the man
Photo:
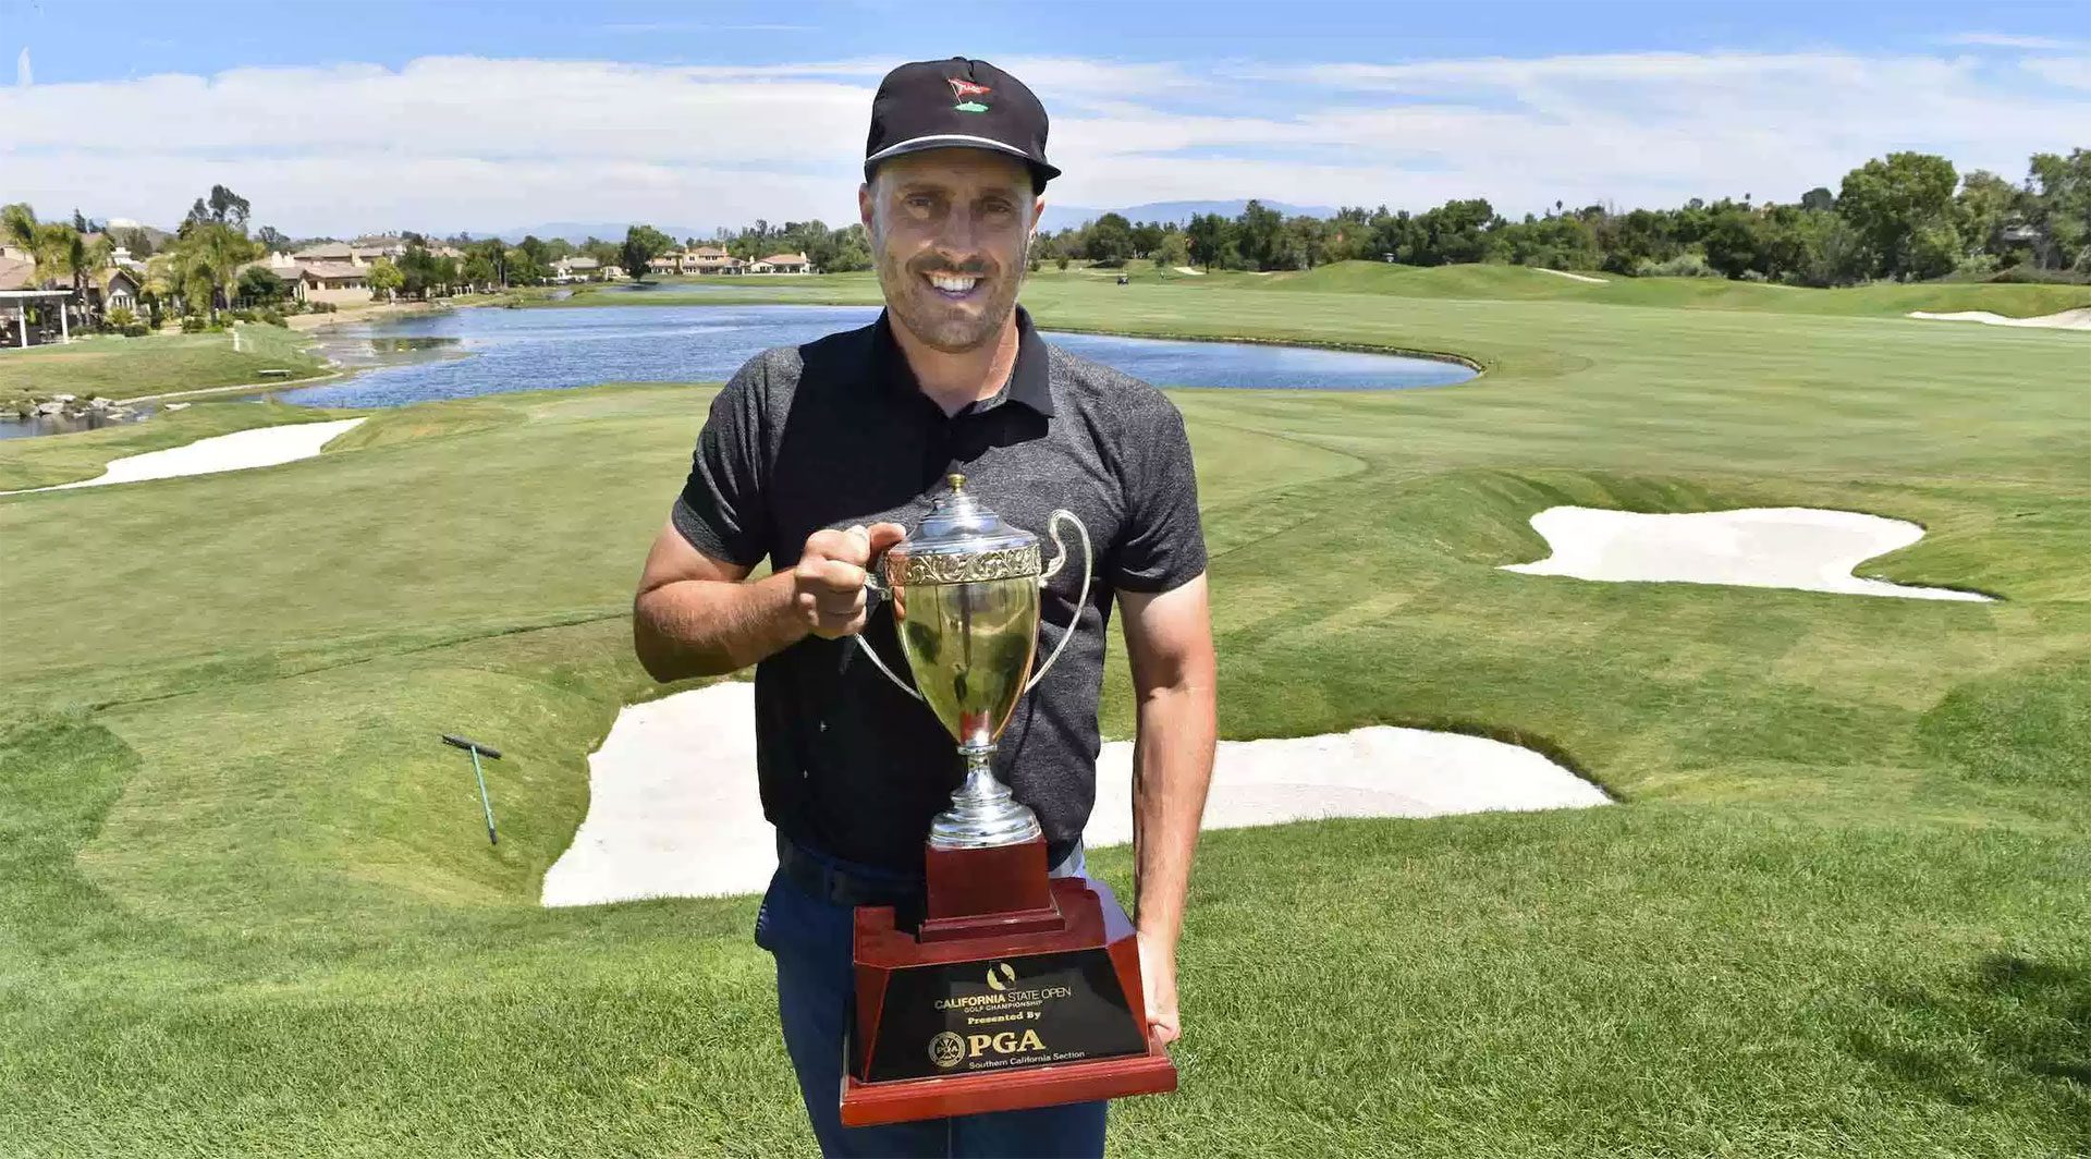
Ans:
[[[40,285],[69,278],[79,291],[109,264],[115,245],[148,262],[142,303],[159,320],[163,308],[215,316],[220,308],[278,305],[289,287],[251,266],[270,251],[293,251],[337,238],[291,238],[272,226],[249,234],[251,205],[230,188],[211,186],[190,205],[169,236],[159,230],[107,230],[84,218],[42,222],[27,203],[0,207],[0,238],[36,262]],[[519,243],[401,232],[406,253],[372,264],[370,285],[404,297],[431,297],[458,287],[531,287],[548,282],[565,257],[588,255],[602,266],[646,276],[648,262],[680,247],[717,245],[734,257],[805,253],[826,272],[872,268],[864,226],[828,228],[820,220],[774,226],[755,220],[719,228],[711,238],[682,238],[652,226],[631,226],[623,238],[525,236]],[[456,249],[460,257],[439,253]],[[1242,213],[1198,213],[1186,224],[1129,222],[1104,213],[1081,226],[1037,234],[1031,268],[1089,262],[1104,268],[1129,259],[1204,270],[1311,270],[1332,262],[1397,262],[1449,266],[1497,262],[1554,270],[1602,270],[1625,276],[1727,276],[1740,280],[1840,287],[1876,278],[1926,280],[2091,280],[2091,149],[2037,153],[2022,182],[1974,169],[1959,176],[1951,161],[1928,153],[1890,153],[1844,174],[1838,190],[1817,186],[1794,203],[1742,199],[1675,209],[1560,201],[1543,215],[1512,222],[1487,199],[1455,199],[1411,213],[1342,207],[1332,218],[1292,215],[1250,201]]]

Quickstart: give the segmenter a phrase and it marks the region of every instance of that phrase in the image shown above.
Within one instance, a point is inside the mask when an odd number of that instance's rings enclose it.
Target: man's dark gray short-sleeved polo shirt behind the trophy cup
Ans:
[[[1096,705],[1112,592],[1165,592],[1204,573],[1184,416],[1158,389],[1048,345],[1016,308],[1010,381],[958,414],[922,393],[887,314],[857,331],[751,358],[711,404],[673,523],[707,556],[792,567],[822,527],[914,527],[947,473],[1037,533],[1056,506],[1089,529],[1089,600],[1075,559],[1041,592],[1039,661],[1077,638],[1010,715],[995,772],[1046,828],[1052,864],[1096,803]],[[905,678],[880,607],[866,640]],[[763,814],[801,845],[922,870],[930,818],[962,780],[956,743],[853,642],[807,636],[755,667]],[[738,776],[740,770],[705,770]]]

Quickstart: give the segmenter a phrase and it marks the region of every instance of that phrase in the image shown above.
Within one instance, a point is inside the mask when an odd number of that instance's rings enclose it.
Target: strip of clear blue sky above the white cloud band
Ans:
[[[416,56],[769,65],[855,56],[1104,56],[1131,61],[1430,61],[1652,50],[1934,50],[1966,33],[2091,38],[2091,2],[1690,4],[1432,2],[905,2],[675,4],[343,0],[197,4],[0,2],[0,46],[31,48],[40,82]],[[1273,15],[1282,13],[1282,15]]]

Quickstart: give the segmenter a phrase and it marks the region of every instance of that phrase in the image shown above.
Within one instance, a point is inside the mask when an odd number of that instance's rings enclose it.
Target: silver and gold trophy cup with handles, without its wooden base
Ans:
[[[1016,711],[1016,701],[1037,686],[1075,638],[1071,623],[1060,644],[1031,672],[1039,638],[1039,588],[1066,563],[1060,525],[1081,540],[1081,596],[1089,603],[1094,554],[1089,529],[1071,510],[1046,521],[1058,552],[1039,569],[1039,538],[1012,527],[966,492],[964,475],[949,475],[947,490],[907,538],[872,563],[866,588],[872,600],[893,603],[893,623],[914,674],[910,688],[893,676],[872,644],[857,646],[910,697],[926,703],[966,757],[966,782],[951,808],[928,828],[933,849],[987,849],[1039,837],[1039,818],[1010,797],[993,772],[995,745]]]

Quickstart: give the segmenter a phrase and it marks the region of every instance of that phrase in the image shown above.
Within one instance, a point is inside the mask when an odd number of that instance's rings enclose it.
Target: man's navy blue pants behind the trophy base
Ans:
[[[836,858],[822,858],[861,877],[878,870]],[[1052,870],[1054,877],[1085,877],[1081,847]],[[755,916],[755,944],[778,962],[778,1017],[784,1050],[799,1071],[799,1094],[813,1121],[822,1155],[928,1157],[928,1155],[1035,1155],[1092,1157],[1104,1153],[1104,1107],[1069,1103],[1033,1111],[956,1115],[880,1128],[845,1128],[841,1119],[843,1033],[849,996],[853,908],[813,897],[778,870]]]

